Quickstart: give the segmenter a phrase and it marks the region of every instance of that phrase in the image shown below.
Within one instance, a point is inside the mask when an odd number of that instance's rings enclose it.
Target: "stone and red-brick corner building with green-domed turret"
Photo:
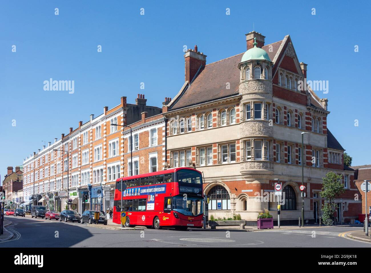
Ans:
[[[354,171],[344,166],[344,148],[328,130],[327,99],[302,84],[307,65],[299,62],[290,36],[265,45],[265,36],[253,31],[246,46],[211,64],[197,46],[185,52],[185,82],[162,103],[165,168],[196,167],[210,196],[209,218],[240,214],[250,225],[264,209],[277,220],[275,179],[285,193],[281,223],[298,223],[302,163],[305,221],[318,223],[322,178],[335,172],[345,188],[335,201],[338,220],[352,222],[361,209]]]

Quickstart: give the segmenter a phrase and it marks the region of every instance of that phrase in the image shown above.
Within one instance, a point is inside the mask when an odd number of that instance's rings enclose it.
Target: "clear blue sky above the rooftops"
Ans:
[[[370,3],[229,2],[1,1],[1,180],[42,140],[59,139],[121,96],[135,103],[143,93],[160,107],[184,83],[184,45],[197,44],[211,63],[244,52],[253,26],[266,44],[291,36],[308,79],[329,81],[328,94],[317,92],[329,100],[328,128],[353,165],[370,164]],[[74,80],[75,92],[44,91],[49,78]]]

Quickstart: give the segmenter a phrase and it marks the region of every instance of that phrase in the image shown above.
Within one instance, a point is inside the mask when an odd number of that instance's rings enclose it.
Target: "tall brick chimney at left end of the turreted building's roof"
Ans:
[[[194,50],[188,49],[185,52],[185,81],[188,81],[188,84],[191,83],[198,70],[200,73],[205,68],[206,57],[202,52],[197,51],[197,45],[194,46]]]

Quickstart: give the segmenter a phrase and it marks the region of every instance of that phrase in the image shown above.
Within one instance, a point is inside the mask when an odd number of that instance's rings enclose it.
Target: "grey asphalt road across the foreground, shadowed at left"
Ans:
[[[340,237],[357,227],[230,232],[174,229],[108,230],[88,224],[6,217],[14,237],[2,247],[371,247],[371,243]]]

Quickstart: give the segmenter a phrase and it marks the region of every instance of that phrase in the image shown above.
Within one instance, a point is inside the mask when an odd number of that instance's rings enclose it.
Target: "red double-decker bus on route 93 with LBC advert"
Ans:
[[[127,186],[124,192],[121,180]],[[116,224],[121,224],[121,195],[127,215],[125,227],[203,227],[203,181],[198,170],[174,168],[117,179],[113,214]]]

